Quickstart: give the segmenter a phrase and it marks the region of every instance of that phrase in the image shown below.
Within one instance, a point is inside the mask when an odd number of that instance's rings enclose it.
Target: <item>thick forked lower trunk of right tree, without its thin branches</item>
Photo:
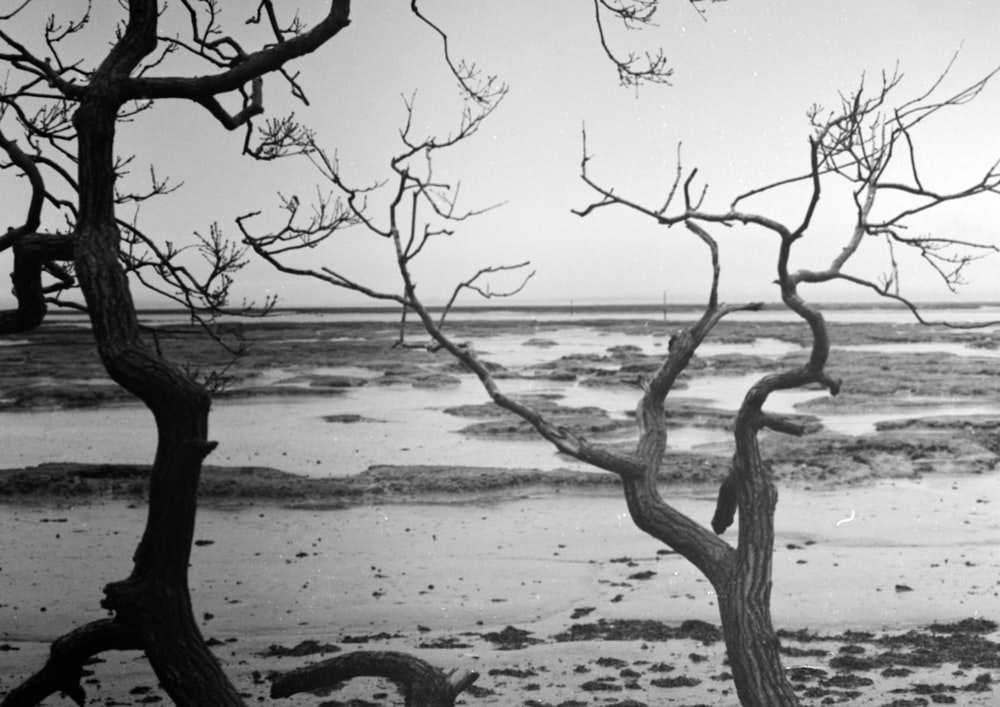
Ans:
[[[715,588],[726,652],[736,692],[743,707],[796,707],[798,698],[785,676],[779,643],[771,621],[771,570],[774,554],[774,511],[778,492],[764,468],[757,444],[763,387],[753,389],[735,423],[733,470],[723,484],[740,511],[739,544],[734,550],[717,535],[666,503],[656,486],[666,449],[663,410],[673,380],[722,316],[714,300],[699,324],[677,334],[670,356],[649,384],[637,419],[639,456],[647,466],[641,475],[623,478],[629,513],[642,530],[661,540],[697,567]],[[720,515],[717,510],[716,517]],[[732,521],[732,515],[729,516]],[[715,522],[713,520],[713,526]],[[728,525],[728,523],[726,523]],[[716,533],[720,528],[713,528]]]

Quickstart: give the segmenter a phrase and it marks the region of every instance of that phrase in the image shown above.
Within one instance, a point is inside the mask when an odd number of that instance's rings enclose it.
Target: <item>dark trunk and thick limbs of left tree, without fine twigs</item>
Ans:
[[[241,705],[241,699],[198,628],[188,591],[188,564],[194,537],[198,481],[202,461],[215,446],[208,439],[210,392],[180,367],[143,341],[119,260],[121,232],[115,214],[115,129],[121,107],[142,98],[182,98],[201,103],[225,127],[243,124],[259,113],[255,83],[247,107],[225,116],[214,95],[259,81],[267,72],[309,53],[345,27],[347,2],[330,3],[329,15],[312,30],[246,55],[232,68],[195,79],[143,79],[132,74],[156,48],[159,3],[131,0],[128,23],[106,58],[86,82],[68,83],[50,75],[50,83],[76,102],[73,127],[77,142],[76,223],[72,239],[30,237],[37,213],[23,232],[8,234],[15,248],[15,287],[19,308],[0,326],[31,328],[44,315],[41,267],[54,255],[72,257],[86,300],[97,349],[108,375],[134,394],[156,421],[157,447],[149,479],[149,510],[132,573],[105,588],[103,605],[114,619],[97,622],[59,639],[41,672],[15,688],[3,705],[31,705],[64,691],[82,704],[80,666],[110,648],[145,651],[164,690],[178,705]],[[26,55],[27,57],[27,55]],[[33,60],[38,71],[52,69]],[[140,72],[141,73],[141,72]],[[8,154],[16,146],[7,143]],[[31,174],[31,165],[22,165]],[[40,192],[35,190],[35,195]],[[40,208],[40,203],[37,205]],[[54,248],[58,246],[57,253]],[[9,323],[9,326],[8,326]]]

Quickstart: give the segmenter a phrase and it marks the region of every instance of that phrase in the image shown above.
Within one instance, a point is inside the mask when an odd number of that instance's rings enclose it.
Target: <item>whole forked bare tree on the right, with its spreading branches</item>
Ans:
[[[737,195],[728,208],[720,211],[705,206],[707,188],[696,188],[697,170],[685,172],[679,157],[672,187],[660,205],[643,205],[602,185],[592,175],[593,157],[587,153],[584,135],[581,176],[598,198],[578,211],[579,215],[587,216],[608,207],[626,208],[666,227],[682,225],[704,244],[711,257],[704,312],[694,325],[672,339],[669,353],[658,371],[651,379],[643,381],[645,392],[636,416],[638,438],[629,452],[588,440],[579,432],[555,424],[531,405],[504,393],[489,367],[477,357],[474,347],[450,338],[417,294],[411,267],[413,258],[426,244],[427,237],[438,232],[436,226],[428,224],[461,220],[470,213],[456,215],[454,201],[446,196],[455,190],[437,183],[430,169],[414,168],[413,161],[426,159],[429,165],[436,151],[470,138],[488,111],[472,118],[467,113],[460,129],[441,141],[432,138],[414,141],[408,123],[402,133],[405,150],[391,160],[394,180],[387,186],[391,198],[384,213],[372,213],[365,198],[370,193],[368,188],[349,186],[339,165],[313,144],[309,151],[311,159],[340,192],[339,198],[331,202],[337,205],[333,211],[338,217],[297,226],[291,219],[285,229],[265,235],[254,234],[250,229],[250,220],[255,214],[240,218],[239,226],[245,241],[284,272],[313,277],[369,297],[395,301],[412,310],[434,345],[448,351],[472,371],[497,405],[529,422],[560,452],[616,474],[621,479],[625,500],[636,525],[685,557],[712,583],[741,703],[748,707],[797,705],[798,699],[781,665],[779,641],[771,619],[774,513],[778,493],[762,455],[758,433],[764,428],[792,435],[806,432],[794,420],[765,410],[768,398],[775,391],[821,386],[836,395],[841,385],[826,371],[830,337],[823,315],[803,298],[799,289],[803,284],[843,280],[872,290],[880,297],[905,303],[920,317],[917,305],[900,288],[899,261],[895,256],[898,249],[915,249],[949,287],[960,281],[971,262],[997,250],[994,245],[952,236],[906,235],[912,221],[933,209],[1000,192],[997,163],[957,189],[936,189],[918,168],[917,152],[917,139],[923,124],[975,98],[995,73],[939,98],[948,74],[945,71],[928,91],[895,107],[888,101],[900,83],[898,74],[883,76],[881,84],[871,93],[862,83],[855,92],[843,97],[833,110],[826,112],[814,108],[810,112],[812,135],[808,143],[808,166],[802,175]],[[408,109],[412,111],[412,106]],[[902,163],[902,170],[898,163]],[[850,187],[855,225],[846,234],[840,253],[826,267],[793,270],[790,266],[793,251],[800,242],[814,236],[811,229],[817,206],[826,195],[823,189],[834,181],[846,182]],[[761,194],[803,184],[807,188],[800,207],[802,215],[793,225],[745,206]],[[886,195],[892,198],[881,198]],[[710,232],[718,225],[750,226],[774,235],[778,242],[775,267],[781,300],[808,327],[812,346],[803,365],[767,375],[747,391],[734,422],[736,451],[731,471],[721,485],[712,527],[708,528],[670,504],[661,490],[659,478],[661,469],[670,463],[666,456],[664,404],[678,376],[720,320],[730,313],[762,306],[759,303],[726,305],[720,302],[719,243]],[[364,228],[392,241],[401,292],[376,291],[332,268],[298,268],[284,262],[289,251],[302,247],[303,239],[316,245],[345,227]],[[887,269],[881,280],[866,279],[849,270],[865,239],[881,240],[886,246]],[[488,272],[488,269],[481,272]],[[985,324],[989,323],[976,326]],[[737,514],[738,541],[733,546],[720,535],[732,525]]]

